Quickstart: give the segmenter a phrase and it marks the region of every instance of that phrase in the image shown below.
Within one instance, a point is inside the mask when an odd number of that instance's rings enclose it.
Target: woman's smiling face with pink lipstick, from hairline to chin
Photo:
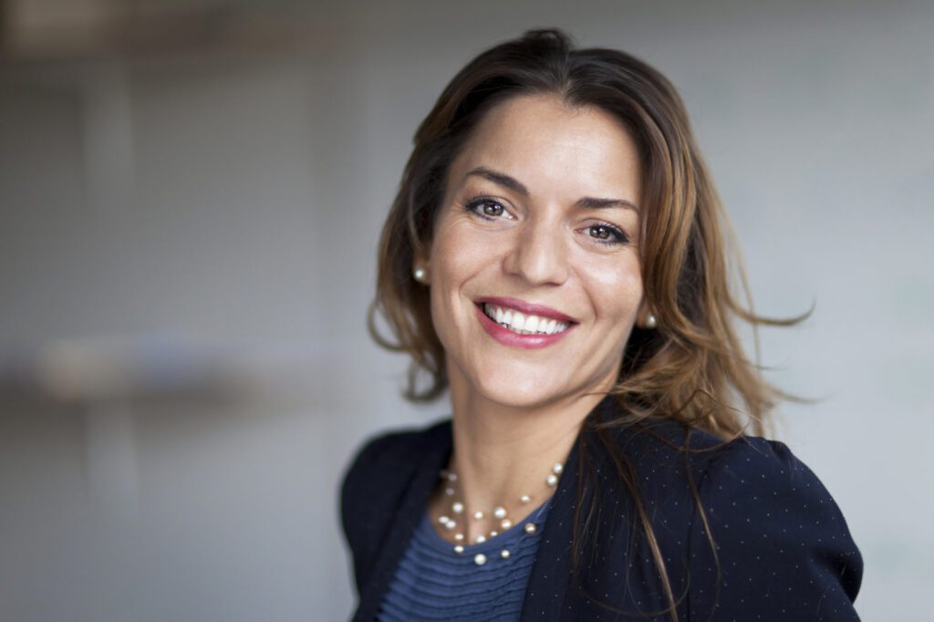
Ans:
[[[616,381],[645,313],[639,166],[598,108],[522,95],[488,112],[420,258],[452,389],[534,407]]]

